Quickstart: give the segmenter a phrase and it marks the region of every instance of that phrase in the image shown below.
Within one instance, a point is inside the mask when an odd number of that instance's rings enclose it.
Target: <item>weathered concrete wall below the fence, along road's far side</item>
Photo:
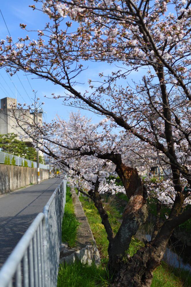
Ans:
[[[49,170],[40,169],[40,180],[49,178]],[[0,194],[37,183],[37,168],[0,164]]]

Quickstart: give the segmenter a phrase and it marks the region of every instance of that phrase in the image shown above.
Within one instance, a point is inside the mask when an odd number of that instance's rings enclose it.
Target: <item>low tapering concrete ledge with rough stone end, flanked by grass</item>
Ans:
[[[78,259],[82,263],[91,264],[94,261],[96,265],[99,265],[99,251],[97,249],[88,220],[84,214],[84,210],[74,188],[71,189],[71,193],[76,219],[81,224],[78,227],[76,247],[68,248],[68,243],[62,243],[62,249],[60,251],[60,263],[66,262],[67,264],[72,264],[76,259]]]

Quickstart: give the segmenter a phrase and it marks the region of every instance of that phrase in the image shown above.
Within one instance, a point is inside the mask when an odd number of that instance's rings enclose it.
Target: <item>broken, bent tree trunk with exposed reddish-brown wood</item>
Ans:
[[[111,275],[117,273],[121,268],[121,261],[125,256],[125,251],[129,248],[132,236],[135,235],[139,226],[145,223],[148,216],[147,195],[137,169],[123,164],[121,155],[116,155],[114,162],[116,172],[123,181],[129,202],[123,213],[121,226],[115,238],[109,242],[108,269]]]

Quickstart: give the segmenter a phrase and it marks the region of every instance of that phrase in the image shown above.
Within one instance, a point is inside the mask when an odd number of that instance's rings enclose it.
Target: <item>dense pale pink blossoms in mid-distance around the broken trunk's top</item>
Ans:
[[[21,105],[20,108],[22,109]],[[68,121],[57,116],[57,119],[50,124],[43,123],[42,125],[39,122],[39,129],[31,126],[30,122],[27,123],[28,126],[25,123],[25,131],[33,135],[34,141],[38,140],[41,150],[46,152],[46,147],[51,149],[52,154],[56,155],[52,163],[58,164],[68,172],[71,185],[82,188],[86,192],[94,188],[99,178],[100,194],[125,193],[124,187],[116,184],[115,164],[111,160],[104,159],[105,155],[120,153],[123,162],[127,166],[136,167],[142,175],[147,173],[152,166],[157,166],[159,160],[162,164],[165,158],[162,154],[157,155],[157,151],[151,149],[148,143],[143,145],[141,141],[136,140],[135,135],[131,133],[123,131],[115,133],[115,128],[113,130],[110,124],[109,118],[93,124],[90,119],[81,116],[78,112],[71,113]],[[181,136],[176,130],[174,135],[177,138]],[[50,139],[51,145],[48,144]],[[175,150],[177,150],[178,160],[190,162],[188,144],[185,140],[175,144]],[[189,164],[187,166],[190,168]],[[169,169],[169,166],[164,163],[163,169]],[[158,199],[162,204],[173,205],[177,193],[171,175],[163,180],[155,177],[155,182],[150,177],[146,177],[144,185],[147,187],[149,197]],[[183,177],[181,185],[182,191],[188,185]],[[188,196],[185,204],[190,204],[190,200]]]

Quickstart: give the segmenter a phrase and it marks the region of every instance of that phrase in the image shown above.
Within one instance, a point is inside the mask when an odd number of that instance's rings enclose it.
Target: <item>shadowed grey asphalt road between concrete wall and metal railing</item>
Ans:
[[[47,179],[0,196],[0,267],[61,181]]]

